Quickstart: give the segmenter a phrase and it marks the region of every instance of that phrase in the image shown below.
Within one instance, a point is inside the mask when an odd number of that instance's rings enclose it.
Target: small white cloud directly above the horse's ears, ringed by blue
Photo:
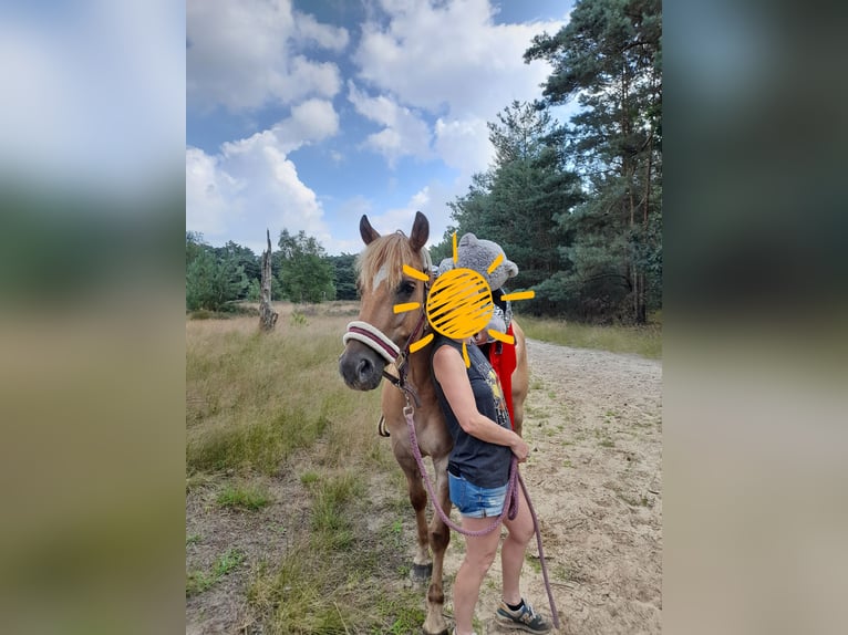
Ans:
[[[365,146],[382,154],[393,166],[404,156],[430,158],[431,132],[427,123],[411,108],[400,105],[391,96],[370,97],[353,84],[348,83],[348,98],[362,116],[381,124],[379,133],[368,136]]]

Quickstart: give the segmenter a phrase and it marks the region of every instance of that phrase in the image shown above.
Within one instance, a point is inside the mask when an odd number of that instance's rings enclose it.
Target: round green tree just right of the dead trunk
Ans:
[[[292,302],[323,302],[335,299],[333,263],[324,248],[304,231],[297,236],[283,229],[280,247],[279,280],[282,296]]]

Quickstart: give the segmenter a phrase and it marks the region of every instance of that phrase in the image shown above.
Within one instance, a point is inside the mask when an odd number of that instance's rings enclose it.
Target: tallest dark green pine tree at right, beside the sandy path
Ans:
[[[585,320],[644,323],[661,306],[662,13],[659,0],[581,0],[525,60],[547,60],[548,105],[577,100],[566,155],[586,200],[558,217],[568,266],[537,293]]]

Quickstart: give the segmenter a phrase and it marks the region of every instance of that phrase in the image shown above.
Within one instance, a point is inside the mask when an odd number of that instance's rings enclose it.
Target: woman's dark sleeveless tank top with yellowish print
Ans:
[[[433,354],[442,346],[451,346],[462,355],[462,342],[455,342],[448,337],[437,335],[433,344]],[[477,404],[477,410],[487,416],[499,426],[511,429],[509,425],[509,412],[506,407],[506,400],[500,391],[500,384],[497,374],[488,360],[480,353],[474,344],[467,345],[468,360],[472,365],[468,368],[468,381],[474,393],[474,400]],[[432,365],[431,365],[432,368]],[[431,371],[432,372],[432,371]],[[451,404],[445,398],[442,385],[433,374],[433,384],[436,387],[438,405],[445,415],[447,429],[454,439],[454,449],[448,459],[448,469],[453,473],[459,473],[467,481],[477,487],[495,488],[506,485],[509,480],[509,464],[513,450],[507,446],[498,446],[482,441],[470,436],[456,419]]]

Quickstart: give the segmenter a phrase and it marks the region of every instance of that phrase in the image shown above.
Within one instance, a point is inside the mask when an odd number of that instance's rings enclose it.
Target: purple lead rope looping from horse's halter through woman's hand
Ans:
[[[414,410],[410,405],[410,399],[407,397],[406,407],[403,409],[403,416],[406,418],[406,427],[410,429],[410,444],[412,445],[412,454],[415,457],[415,462],[418,465],[418,471],[424,479],[424,485],[427,487],[430,499],[433,501],[433,508],[436,510],[436,513],[438,513],[438,517],[442,519],[442,521],[454,531],[459,532],[463,535],[480,537],[486,535],[487,533],[492,533],[495,528],[500,524],[505,516],[509,520],[515,520],[515,518],[518,516],[518,490],[516,489],[516,481],[521,483],[521,491],[524,491],[524,497],[527,499],[527,508],[530,510],[530,517],[532,518],[532,529],[536,532],[536,544],[539,548],[539,562],[541,562],[541,576],[545,581],[545,591],[548,594],[550,615],[554,621],[554,627],[559,628],[559,613],[557,612],[557,605],[554,602],[554,593],[550,591],[550,581],[548,580],[548,565],[545,562],[545,552],[541,549],[541,530],[539,529],[539,519],[536,517],[536,510],[532,508],[532,501],[530,501],[530,495],[527,492],[527,486],[525,485],[521,475],[518,472],[518,458],[513,455],[513,460],[509,465],[509,485],[507,486],[506,490],[506,500],[509,502],[508,504],[504,506],[504,509],[500,511],[500,516],[498,516],[495,521],[486,529],[478,531],[468,531],[467,529],[463,529],[453,522],[442,509],[442,506],[438,504],[438,498],[433,490],[433,483],[430,480],[430,475],[427,473],[426,466],[424,465],[424,459],[421,456],[421,449],[418,448],[418,437],[415,434],[415,419],[413,418],[413,415]]]

